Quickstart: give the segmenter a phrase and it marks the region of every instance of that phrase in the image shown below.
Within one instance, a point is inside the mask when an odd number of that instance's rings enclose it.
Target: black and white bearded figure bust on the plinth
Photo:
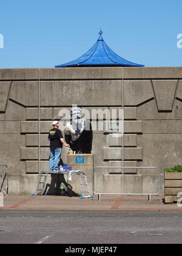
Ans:
[[[66,143],[70,144],[70,149],[76,154],[91,154],[93,133],[90,121],[82,118],[81,107],[73,107],[70,115],[72,119],[65,130]]]

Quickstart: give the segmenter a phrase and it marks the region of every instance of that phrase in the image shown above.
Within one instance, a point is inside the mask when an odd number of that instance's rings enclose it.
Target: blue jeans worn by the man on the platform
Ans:
[[[50,157],[49,157],[49,168],[50,170],[57,170],[59,161],[61,159],[62,148],[50,148]]]

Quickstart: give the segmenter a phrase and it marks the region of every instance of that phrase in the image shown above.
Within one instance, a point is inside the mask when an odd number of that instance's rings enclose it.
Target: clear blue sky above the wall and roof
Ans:
[[[52,68],[83,55],[98,39],[124,59],[182,66],[181,0],[1,1],[0,68]]]

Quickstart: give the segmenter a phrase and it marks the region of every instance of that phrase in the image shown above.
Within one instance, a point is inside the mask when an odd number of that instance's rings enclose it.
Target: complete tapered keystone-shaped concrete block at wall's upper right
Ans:
[[[178,80],[152,80],[158,111],[172,111]]]

